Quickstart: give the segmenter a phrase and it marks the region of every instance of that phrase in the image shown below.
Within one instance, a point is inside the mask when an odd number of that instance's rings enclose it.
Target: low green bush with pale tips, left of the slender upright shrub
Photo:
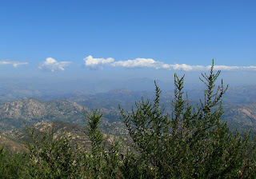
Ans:
[[[30,162],[26,165],[27,178],[74,178],[78,175],[75,153],[70,136],[54,136],[54,126],[40,133],[26,125],[26,141]]]

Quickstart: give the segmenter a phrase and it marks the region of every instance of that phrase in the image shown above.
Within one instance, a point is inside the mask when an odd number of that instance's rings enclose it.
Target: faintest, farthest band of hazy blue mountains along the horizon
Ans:
[[[165,95],[165,93],[173,93],[173,83],[157,82],[158,86],[163,91],[162,95]],[[69,99],[70,97],[79,97],[81,95],[86,97],[106,97],[111,92],[119,93],[119,90],[114,90],[117,88],[130,91],[130,94],[135,96],[136,93],[143,93],[141,96],[144,97],[146,97],[148,93],[154,92],[154,80],[149,78],[135,78],[125,82],[104,81],[98,82],[97,84],[93,82],[83,83],[77,81],[72,82],[70,85],[61,84],[62,83],[55,84],[53,90],[47,89],[43,84],[38,87],[41,90],[37,89],[36,86],[26,86],[26,84],[16,84],[15,86],[2,84],[2,88],[0,89],[0,102],[15,101],[23,97],[35,97],[42,101],[63,100]],[[190,86],[192,85],[190,84]],[[68,90],[70,88],[75,89]],[[60,90],[64,91],[60,92]],[[187,90],[191,101],[198,101],[198,98],[204,97],[204,86],[202,85],[193,85],[193,87],[186,88],[185,90]],[[230,86],[223,96],[223,100],[225,103],[256,103],[256,86]]]

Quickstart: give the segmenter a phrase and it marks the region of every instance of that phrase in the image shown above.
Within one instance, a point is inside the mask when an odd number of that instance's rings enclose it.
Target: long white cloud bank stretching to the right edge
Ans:
[[[93,58],[88,56],[83,59],[85,66],[91,70],[102,70],[104,66],[123,67],[126,69],[136,68],[153,68],[166,70],[184,70],[184,71],[198,71],[210,70],[211,66],[190,66],[186,64],[166,64],[164,62],[155,61],[151,58],[136,58],[134,60],[114,62],[114,58]],[[256,66],[214,66],[214,70],[256,70]]]

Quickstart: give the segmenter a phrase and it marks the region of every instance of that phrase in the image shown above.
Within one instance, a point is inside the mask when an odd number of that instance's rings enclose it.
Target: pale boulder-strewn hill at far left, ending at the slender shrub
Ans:
[[[82,123],[85,121],[84,108],[72,101],[43,102],[36,98],[22,98],[18,101],[6,102],[0,105],[0,129],[14,129],[25,122],[70,121]]]

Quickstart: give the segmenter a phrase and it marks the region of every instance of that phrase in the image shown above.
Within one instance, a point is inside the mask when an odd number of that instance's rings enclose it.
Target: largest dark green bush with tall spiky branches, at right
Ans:
[[[215,86],[220,74],[202,74],[205,98],[193,108],[184,97],[184,76],[174,75],[173,110],[164,114],[159,105],[161,90],[156,86],[154,102],[136,102],[136,109],[125,113],[122,121],[155,178],[253,177],[254,153],[248,135],[230,133],[222,117],[222,95],[227,87]],[[248,158],[248,153],[250,157]],[[250,165],[250,166],[249,166]]]

